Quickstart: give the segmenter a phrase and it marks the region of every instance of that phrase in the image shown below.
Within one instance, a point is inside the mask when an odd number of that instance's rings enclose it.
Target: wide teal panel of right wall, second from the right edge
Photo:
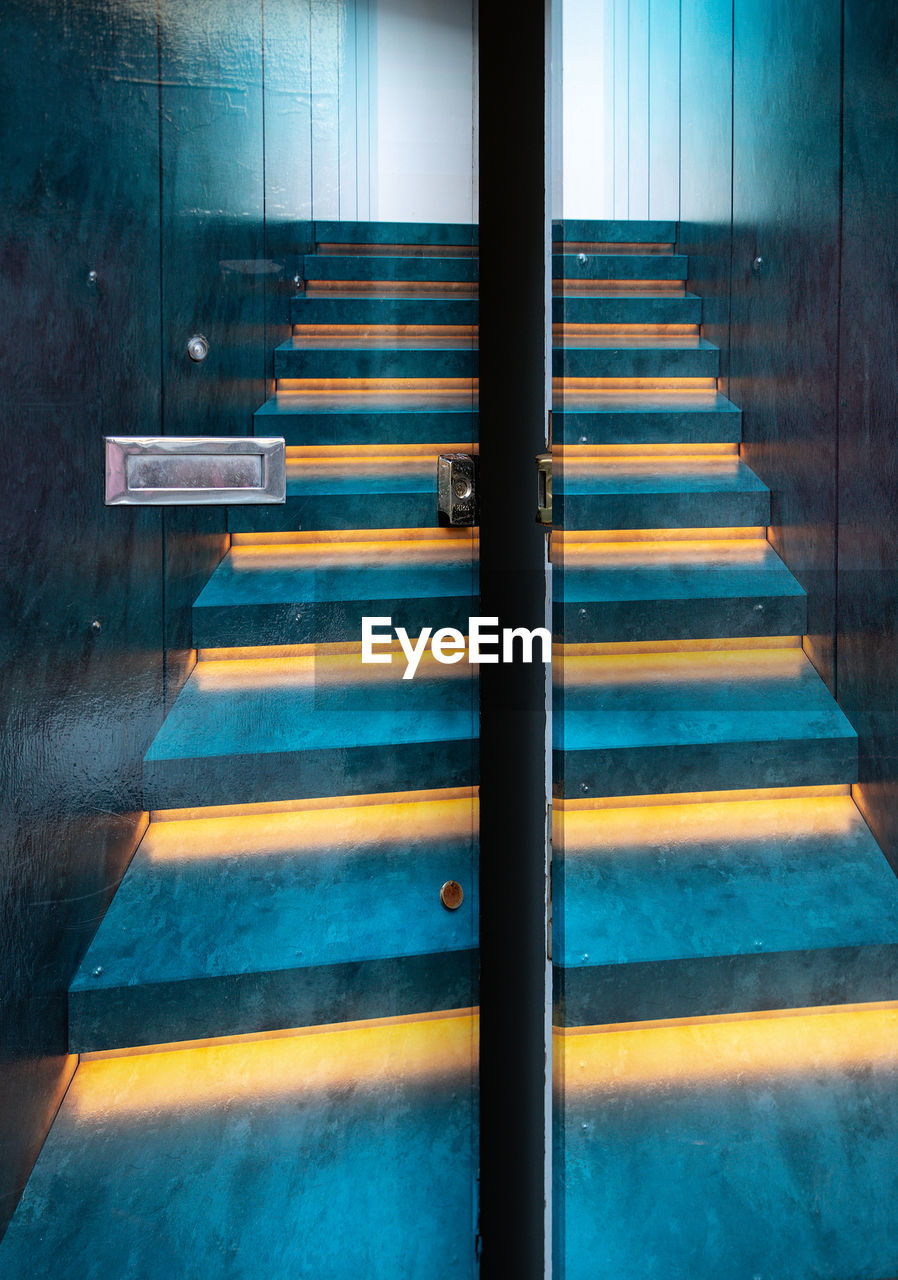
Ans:
[[[840,5],[737,0],[734,14],[729,388],[833,686]]]

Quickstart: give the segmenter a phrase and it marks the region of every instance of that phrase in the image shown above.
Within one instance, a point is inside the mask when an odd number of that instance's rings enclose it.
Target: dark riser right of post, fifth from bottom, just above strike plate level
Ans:
[[[553,435],[563,444],[732,444],[742,439],[742,413],[555,410]]]

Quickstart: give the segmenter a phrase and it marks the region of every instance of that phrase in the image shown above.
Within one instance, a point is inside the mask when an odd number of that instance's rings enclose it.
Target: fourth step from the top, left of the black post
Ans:
[[[274,353],[275,378],[475,378],[472,338],[290,338]]]

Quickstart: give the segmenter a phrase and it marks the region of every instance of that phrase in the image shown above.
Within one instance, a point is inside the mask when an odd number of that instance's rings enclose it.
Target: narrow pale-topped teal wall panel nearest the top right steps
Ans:
[[[702,333],[729,370],[733,220],[733,0],[683,0],[678,248],[702,298]],[[725,390],[725,381],[721,384]]]

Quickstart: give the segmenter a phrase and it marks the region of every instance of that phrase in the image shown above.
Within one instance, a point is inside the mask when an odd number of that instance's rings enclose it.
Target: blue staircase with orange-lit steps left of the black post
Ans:
[[[313,234],[255,420],[287,503],[232,508],[196,600],[10,1280],[475,1272],[476,686],[359,636],[476,612],[476,532],[436,508],[476,439],[476,234]]]

